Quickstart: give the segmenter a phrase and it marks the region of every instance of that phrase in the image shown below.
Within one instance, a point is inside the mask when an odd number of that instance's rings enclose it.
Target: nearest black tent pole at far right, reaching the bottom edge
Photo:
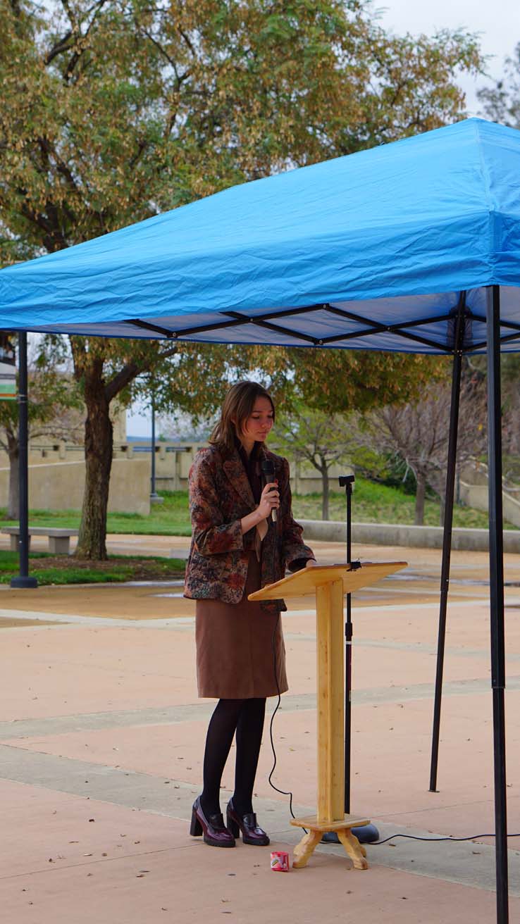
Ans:
[[[507,808],[505,783],[505,653],[503,620],[503,522],[501,497],[501,343],[500,286],[487,289],[488,333],[488,483],[489,614],[491,687],[493,691],[493,759],[495,778],[495,858],[497,922],[507,924]]]

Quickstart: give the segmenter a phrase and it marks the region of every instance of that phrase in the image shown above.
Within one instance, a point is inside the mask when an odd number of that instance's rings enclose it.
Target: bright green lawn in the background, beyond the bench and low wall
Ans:
[[[190,536],[191,527],[188,515],[188,493],[185,491],[161,492],[163,504],[153,505],[150,515],[109,514],[107,529],[109,533],[134,533],[164,536]],[[342,520],[346,515],[344,493],[330,495],[330,519]],[[321,519],[321,496],[319,494],[295,495],[292,508],[296,519]],[[390,488],[363,478],[357,478],[353,491],[354,523],[404,523],[414,522],[415,499],[398,488]],[[0,517],[2,511],[0,510]],[[4,512],[5,514],[5,512]],[[5,520],[4,525],[15,525],[15,520]],[[31,526],[55,526],[78,529],[80,511],[78,510],[34,510],[30,512]],[[425,525],[439,526],[440,505],[427,501],[425,505]],[[455,527],[488,528],[488,515],[481,510],[455,505],[453,511]],[[515,529],[511,524],[504,524],[506,529]]]

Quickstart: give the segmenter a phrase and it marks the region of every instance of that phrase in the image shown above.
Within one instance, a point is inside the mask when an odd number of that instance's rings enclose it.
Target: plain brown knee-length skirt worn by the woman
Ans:
[[[260,603],[247,599],[249,593],[259,588],[260,565],[252,553],[240,603],[196,601],[195,642],[200,697],[251,699],[276,696],[276,677],[279,692],[285,693],[288,689],[281,615],[266,613]]]

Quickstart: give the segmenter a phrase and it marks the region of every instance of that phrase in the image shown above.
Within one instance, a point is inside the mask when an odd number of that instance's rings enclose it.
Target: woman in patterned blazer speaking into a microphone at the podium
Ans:
[[[184,593],[196,600],[199,696],[218,699],[190,833],[204,833],[205,843],[217,847],[234,846],[239,832],[244,844],[269,843],[253,811],[254,777],[266,697],[288,688],[279,618],[285,604],[249,602],[248,594],[279,580],[286,567],[316,565],[292,519],[287,459],[266,449],[274,420],[275,407],[261,385],[233,385],[210,446],[197,453],[190,471],[192,548]],[[264,485],[266,462],[275,474]],[[225,826],[220,780],[235,733],[235,789]]]

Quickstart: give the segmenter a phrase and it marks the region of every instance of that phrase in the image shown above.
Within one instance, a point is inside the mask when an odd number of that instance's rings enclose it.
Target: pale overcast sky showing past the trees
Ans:
[[[489,55],[489,78],[501,77],[503,60],[513,55],[514,46],[520,42],[520,0],[387,0],[374,2],[379,10],[379,21],[386,29],[396,33],[425,32],[432,35],[440,29],[464,28],[480,33],[480,44],[485,55]],[[468,112],[478,115],[477,88],[485,85],[483,78],[464,78]],[[489,82],[489,81],[488,81]],[[150,433],[149,412],[127,414],[130,436],[148,436]]]

